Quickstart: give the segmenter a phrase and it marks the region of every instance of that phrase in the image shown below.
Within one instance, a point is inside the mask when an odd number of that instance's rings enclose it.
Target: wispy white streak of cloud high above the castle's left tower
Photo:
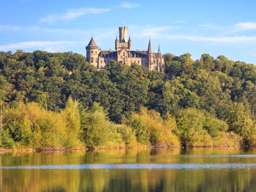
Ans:
[[[110,11],[110,9],[99,9],[99,8],[81,8],[81,9],[69,9],[64,14],[53,14],[41,18],[39,22],[44,23],[54,23],[57,21],[71,21],[75,18],[81,17],[86,14],[100,14]]]

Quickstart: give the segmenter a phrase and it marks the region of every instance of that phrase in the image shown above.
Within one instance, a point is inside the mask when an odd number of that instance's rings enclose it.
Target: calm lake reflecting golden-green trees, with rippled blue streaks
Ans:
[[[0,154],[6,191],[255,191],[256,148]]]

